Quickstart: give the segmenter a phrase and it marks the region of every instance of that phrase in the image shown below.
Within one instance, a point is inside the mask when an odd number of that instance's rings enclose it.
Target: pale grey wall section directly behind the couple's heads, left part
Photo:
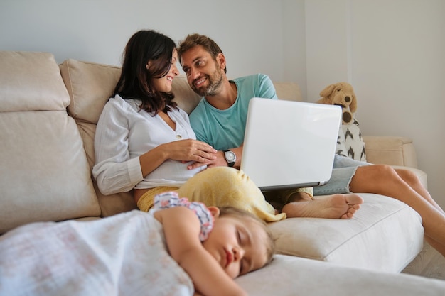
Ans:
[[[75,58],[120,65],[124,45],[139,29],[154,28],[176,41],[197,32],[223,49],[230,77],[264,72],[282,80],[281,5],[269,0],[215,3],[1,0],[0,49],[49,51],[58,62]]]

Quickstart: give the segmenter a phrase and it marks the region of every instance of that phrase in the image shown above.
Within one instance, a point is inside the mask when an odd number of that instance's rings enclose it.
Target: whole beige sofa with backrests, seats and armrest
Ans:
[[[0,234],[33,221],[136,209],[131,192],[104,196],[91,177],[95,124],[119,71],[77,60],[58,65],[50,53],[0,52]],[[280,98],[301,100],[296,84],[274,85]],[[173,92],[186,111],[199,100],[184,77],[174,80]],[[370,162],[414,170],[427,185],[409,138],[365,142]],[[250,295],[443,295],[445,281],[426,277],[441,278],[441,271],[423,273],[441,256],[424,247],[417,212],[395,199],[361,195],[363,207],[350,220],[270,224],[274,261],[238,283]]]

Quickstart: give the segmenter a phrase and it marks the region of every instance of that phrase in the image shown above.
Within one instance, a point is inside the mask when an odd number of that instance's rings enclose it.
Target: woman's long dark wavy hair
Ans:
[[[119,94],[124,99],[140,99],[140,108],[153,116],[160,111],[177,109],[176,102],[172,101],[173,93],[157,91],[151,81],[167,75],[175,48],[176,44],[171,38],[156,31],[134,33],[124,50],[122,72],[114,95]]]

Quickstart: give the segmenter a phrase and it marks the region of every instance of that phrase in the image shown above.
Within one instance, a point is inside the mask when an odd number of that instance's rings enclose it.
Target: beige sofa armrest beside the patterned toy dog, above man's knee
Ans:
[[[417,168],[412,139],[395,136],[364,136],[366,160],[369,163]]]

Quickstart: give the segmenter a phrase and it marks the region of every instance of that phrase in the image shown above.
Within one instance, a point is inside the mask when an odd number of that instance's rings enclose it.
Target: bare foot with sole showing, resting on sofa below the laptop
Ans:
[[[289,202],[282,212],[288,218],[350,219],[360,209],[360,204],[363,204],[363,198],[357,194],[332,194],[312,201]]]

